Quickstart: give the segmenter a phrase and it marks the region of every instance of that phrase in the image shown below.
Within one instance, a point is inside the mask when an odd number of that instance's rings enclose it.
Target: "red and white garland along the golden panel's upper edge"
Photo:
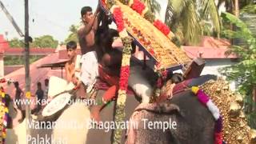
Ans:
[[[126,2],[121,2],[127,5]],[[159,19],[155,19],[154,14],[150,12],[150,10],[145,6],[143,2],[141,2],[140,0],[130,0],[128,2],[128,6],[130,6],[130,8],[136,11],[138,14],[142,15],[143,18],[146,18],[146,20],[153,23],[153,25],[162,32],[162,34],[165,34],[168,38],[173,37],[173,34],[170,32],[170,28]]]

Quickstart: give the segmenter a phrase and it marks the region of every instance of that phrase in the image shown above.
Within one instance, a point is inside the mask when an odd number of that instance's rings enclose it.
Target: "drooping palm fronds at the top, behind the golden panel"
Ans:
[[[165,22],[185,44],[196,44],[205,29],[203,23],[212,23],[212,32],[220,33],[221,22],[214,0],[169,0]]]

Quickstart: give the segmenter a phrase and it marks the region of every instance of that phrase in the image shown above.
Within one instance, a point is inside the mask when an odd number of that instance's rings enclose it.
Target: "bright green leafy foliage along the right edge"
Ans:
[[[245,112],[248,123],[256,128],[256,103],[253,90],[256,90],[256,37],[246,24],[233,14],[223,13],[223,20],[234,24],[236,31],[224,30],[227,38],[242,39],[243,46],[232,46],[228,54],[238,54],[239,62],[222,70],[229,80],[238,82],[238,92],[244,96]]]

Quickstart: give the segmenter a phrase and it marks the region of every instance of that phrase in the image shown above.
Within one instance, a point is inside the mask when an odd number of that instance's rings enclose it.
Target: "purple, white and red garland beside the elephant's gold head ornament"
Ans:
[[[214,127],[214,144],[222,144],[222,116],[218,110],[218,107],[210,100],[210,98],[197,86],[192,86],[192,92],[197,95],[199,102],[204,106],[207,106],[211,114],[213,114],[215,119]]]

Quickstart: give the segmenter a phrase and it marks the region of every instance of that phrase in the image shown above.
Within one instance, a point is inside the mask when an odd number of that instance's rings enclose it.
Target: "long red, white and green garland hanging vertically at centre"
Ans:
[[[132,39],[129,37],[126,28],[124,26],[124,21],[122,17],[122,10],[119,6],[115,5],[114,0],[102,0],[103,4],[110,9],[111,14],[113,14],[113,18],[117,25],[117,30],[119,33],[120,38],[122,39],[123,43],[123,50],[122,50],[122,66],[120,72],[120,79],[119,79],[119,90],[118,90],[118,99],[117,99],[117,106],[116,106],[116,113],[114,115],[114,120],[116,122],[122,122],[125,118],[125,104],[126,104],[126,91],[128,87],[128,78],[130,74],[130,56],[131,56],[131,42]],[[114,143],[121,143],[122,138],[122,129],[114,130]]]

